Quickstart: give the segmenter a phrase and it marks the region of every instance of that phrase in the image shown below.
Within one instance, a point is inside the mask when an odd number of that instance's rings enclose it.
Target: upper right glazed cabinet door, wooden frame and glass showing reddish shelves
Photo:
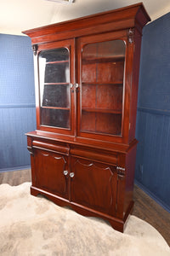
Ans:
[[[123,136],[126,37],[78,39],[77,134],[120,142]]]

